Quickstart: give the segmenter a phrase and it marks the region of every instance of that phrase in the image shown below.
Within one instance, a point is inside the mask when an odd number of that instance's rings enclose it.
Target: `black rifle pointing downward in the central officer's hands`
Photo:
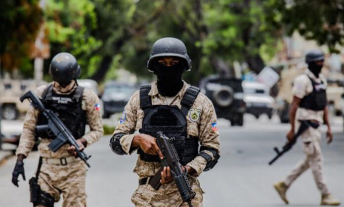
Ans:
[[[186,173],[183,172],[181,168],[182,166],[179,163],[177,151],[172,144],[173,138],[169,138],[165,136],[163,132],[159,131],[156,139],[158,147],[164,155],[164,159],[161,160],[163,167],[152,177],[152,179],[149,181],[149,184],[155,190],[158,190],[161,186],[161,171],[163,170],[164,166],[170,166],[171,174],[175,184],[177,185],[181,199],[183,202],[187,202],[189,207],[192,207],[191,200],[195,197],[196,193],[192,191]]]

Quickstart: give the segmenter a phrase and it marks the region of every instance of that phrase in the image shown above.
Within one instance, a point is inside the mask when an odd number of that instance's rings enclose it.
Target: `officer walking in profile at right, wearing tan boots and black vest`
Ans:
[[[324,54],[320,50],[312,50],[306,54],[308,69],[298,76],[293,86],[293,102],[290,108],[291,130],[287,138],[291,141],[295,129],[300,126],[299,120],[308,120],[316,123],[325,123],[328,127],[327,142],[331,143],[333,135],[328,118],[326,100],[326,80],[321,69],[324,64]],[[327,188],[322,171],[323,155],[320,148],[321,133],[318,128],[309,127],[301,134],[305,158],[289,173],[284,181],[274,184],[281,199],[288,204],[286,192],[290,185],[308,168],[313,172],[316,185],[321,192],[321,205],[340,205],[340,201],[333,198]]]

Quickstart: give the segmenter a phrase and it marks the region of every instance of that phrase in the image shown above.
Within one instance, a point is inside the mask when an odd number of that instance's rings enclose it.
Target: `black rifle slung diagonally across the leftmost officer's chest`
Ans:
[[[48,124],[46,125],[37,126],[37,130],[47,130],[48,133],[52,133],[56,137],[48,145],[49,149],[52,152],[56,152],[58,149],[62,147],[62,145],[69,143],[70,145],[75,147],[75,151],[77,152],[78,157],[81,160],[83,160],[88,167],[90,167],[87,163],[87,160],[91,156],[87,156],[83,151],[80,151],[80,147],[77,141],[75,140],[74,136],[66,127],[66,125],[63,124],[63,122],[56,116],[56,114],[54,114],[54,112],[52,112],[51,110],[46,109],[42,101],[31,90],[29,90],[20,97],[21,102],[23,102],[25,99],[29,99],[32,106],[38,109],[48,121]]]

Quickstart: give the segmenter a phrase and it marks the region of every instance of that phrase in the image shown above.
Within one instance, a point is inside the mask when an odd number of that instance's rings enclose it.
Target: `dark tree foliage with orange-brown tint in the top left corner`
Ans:
[[[43,22],[39,0],[1,0],[1,69],[32,76],[30,52]]]

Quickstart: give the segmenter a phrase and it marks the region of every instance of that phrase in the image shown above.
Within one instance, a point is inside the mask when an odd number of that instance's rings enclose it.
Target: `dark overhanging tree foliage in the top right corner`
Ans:
[[[344,45],[343,0],[288,0],[279,2],[287,35],[294,31],[307,40],[326,44],[330,52],[339,52],[337,45]]]

